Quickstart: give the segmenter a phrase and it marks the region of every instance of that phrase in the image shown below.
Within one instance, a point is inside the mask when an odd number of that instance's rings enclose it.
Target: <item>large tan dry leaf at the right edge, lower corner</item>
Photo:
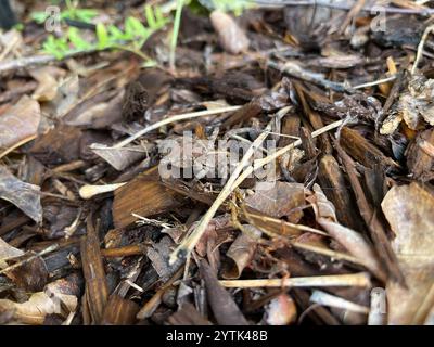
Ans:
[[[388,323],[422,324],[434,305],[434,195],[418,183],[394,187],[381,206],[408,287],[387,283]]]

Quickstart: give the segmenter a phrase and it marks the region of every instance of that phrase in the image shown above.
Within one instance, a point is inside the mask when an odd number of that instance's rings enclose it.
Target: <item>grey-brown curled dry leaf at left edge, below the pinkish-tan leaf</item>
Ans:
[[[37,223],[42,221],[39,190],[38,185],[18,180],[7,168],[0,166],[0,198],[14,204]]]

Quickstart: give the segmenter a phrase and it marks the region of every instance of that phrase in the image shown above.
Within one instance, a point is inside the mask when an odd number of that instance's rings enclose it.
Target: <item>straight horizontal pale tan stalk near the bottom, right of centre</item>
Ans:
[[[228,288],[257,288],[257,287],[309,287],[309,286],[362,286],[370,287],[369,273],[312,275],[307,278],[264,279],[264,280],[233,280],[219,281]]]

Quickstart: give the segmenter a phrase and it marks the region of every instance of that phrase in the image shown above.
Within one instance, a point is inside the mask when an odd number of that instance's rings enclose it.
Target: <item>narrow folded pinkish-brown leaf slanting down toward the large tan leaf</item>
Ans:
[[[339,223],[333,204],[328,201],[318,184],[314,184],[314,192],[308,201],[312,204],[317,222],[379,279],[384,279],[384,273],[368,241],[353,229]]]

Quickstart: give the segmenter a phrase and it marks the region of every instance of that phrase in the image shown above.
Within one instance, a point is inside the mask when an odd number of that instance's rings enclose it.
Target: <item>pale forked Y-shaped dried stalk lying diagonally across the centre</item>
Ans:
[[[278,114],[286,113],[291,107],[284,107],[279,111]],[[332,129],[335,129],[340,127],[344,123],[343,119],[334,121],[321,129],[318,129],[311,133],[312,138],[316,138],[327,131],[330,131]],[[170,264],[175,264],[177,258],[186,258],[186,256],[191,253],[191,250],[194,248],[199,240],[201,240],[202,234],[205,232],[206,227],[209,223],[209,220],[214,217],[220,205],[225,202],[225,200],[251,175],[253,174],[256,169],[263,167],[264,165],[267,165],[268,163],[271,163],[279,156],[285,154],[286,152],[295,149],[296,146],[302,144],[302,140],[297,140],[279,151],[266,156],[265,158],[261,159],[256,159],[253,163],[253,166],[248,166],[245,168],[245,165],[247,164],[248,159],[252,157],[254,152],[260,144],[264,142],[266,137],[268,136],[267,131],[270,130],[270,125],[267,126],[266,129],[261,132],[259,137],[256,138],[256,140],[252,143],[252,145],[248,147],[247,152],[239,163],[239,165],[235,167],[233,170],[232,175],[230,176],[229,180],[218,194],[217,198],[213,203],[213,205],[209,207],[207,213],[202,217],[201,222],[197,224],[196,229],[184,240],[181,242],[181,244],[175,249],[175,252],[170,255]],[[244,169],[245,168],[245,169]],[[243,171],[244,169],[244,171]],[[241,174],[242,172],[242,174]]]

